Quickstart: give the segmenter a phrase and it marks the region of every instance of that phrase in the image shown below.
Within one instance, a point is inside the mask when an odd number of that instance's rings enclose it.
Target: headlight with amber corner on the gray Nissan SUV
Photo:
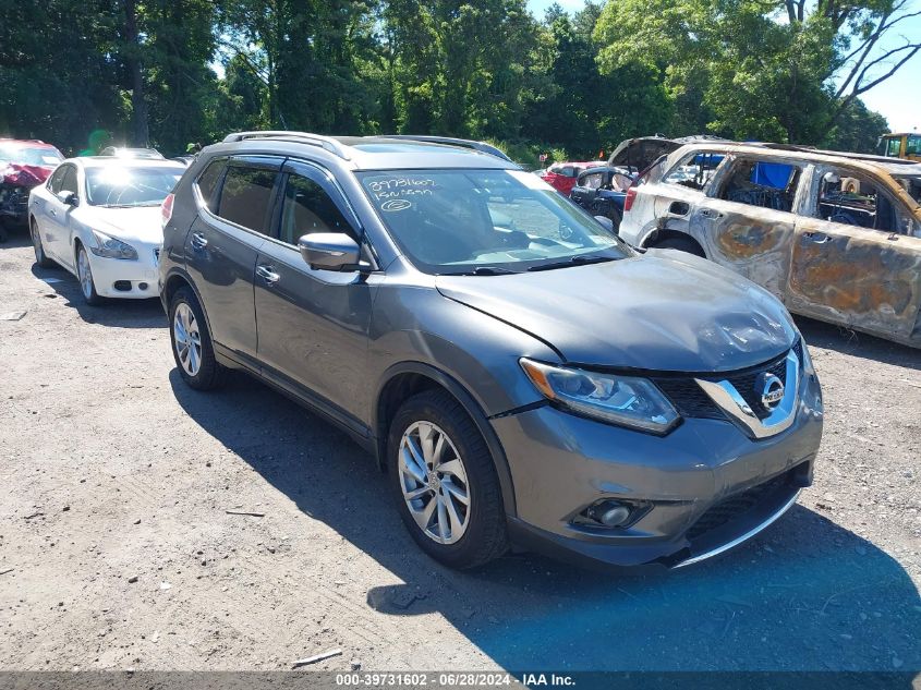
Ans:
[[[553,366],[522,358],[528,377],[547,399],[578,414],[654,434],[665,434],[680,416],[645,378]]]

